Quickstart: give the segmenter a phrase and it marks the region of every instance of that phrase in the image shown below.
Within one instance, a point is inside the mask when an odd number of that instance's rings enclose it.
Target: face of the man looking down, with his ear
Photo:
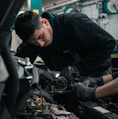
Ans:
[[[53,41],[53,30],[49,22],[43,18],[43,27],[36,29],[34,34],[29,38],[29,43],[38,45],[40,47],[46,47]]]

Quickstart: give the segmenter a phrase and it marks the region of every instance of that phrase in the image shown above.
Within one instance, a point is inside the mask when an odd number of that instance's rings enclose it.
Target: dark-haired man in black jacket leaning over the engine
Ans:
[[[39,55],[51,70],[73,65],[83,76],[109,73],[115,40],[84,14],[26,11],[16,18],[15,31],[23,41],[16,55],[31,62]]]

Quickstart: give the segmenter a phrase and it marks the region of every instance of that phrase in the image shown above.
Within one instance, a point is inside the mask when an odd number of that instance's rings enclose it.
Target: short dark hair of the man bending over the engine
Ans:
[[[40,27],[40,16],[32,11],[25,11],[16,17],[15,31],[24,42]]]

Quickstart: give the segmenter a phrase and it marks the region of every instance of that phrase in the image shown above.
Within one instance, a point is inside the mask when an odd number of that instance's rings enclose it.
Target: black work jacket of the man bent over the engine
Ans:
[[[115,40],[86,15],[43,13],[42,17],[51,23],[53,43],[43,48],[21,44],[17,55],[28,56],[32,62],[39,55],[51,70],[74,64],[80,74],[89,76],[97,76],[111,65]]]

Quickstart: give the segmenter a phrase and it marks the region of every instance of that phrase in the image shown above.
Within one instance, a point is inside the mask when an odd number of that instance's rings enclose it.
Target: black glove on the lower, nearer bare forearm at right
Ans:
[[[77,100],[95,100],[96,88],[84,86],[83,84],[77,84],[73,86],[73,97]]]

